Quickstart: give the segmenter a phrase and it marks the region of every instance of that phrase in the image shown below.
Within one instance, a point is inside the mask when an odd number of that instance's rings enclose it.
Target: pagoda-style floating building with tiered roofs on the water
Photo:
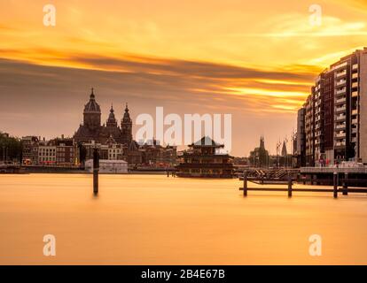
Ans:
[[[205,136],[191,143],[183,152],[181,162],[176,166],[179,177],[232,178],[233,164],[228,154],[219,153],[223,144]]]

